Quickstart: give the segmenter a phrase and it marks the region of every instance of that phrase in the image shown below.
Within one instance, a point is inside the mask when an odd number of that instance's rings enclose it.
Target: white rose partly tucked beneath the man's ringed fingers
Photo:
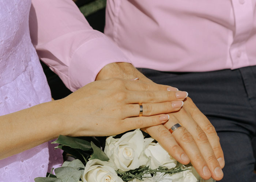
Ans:
[[[148,143],[148,141],[153,141],[154,139],[145,138],[145,140],[147,140],[145,143]],[[146,166],[149,166],[151,169],[157,169],[159,166],[172,169],[177,165],[177,161],[159,143],[151,142],[146,146],[144,153],[149,158]]]

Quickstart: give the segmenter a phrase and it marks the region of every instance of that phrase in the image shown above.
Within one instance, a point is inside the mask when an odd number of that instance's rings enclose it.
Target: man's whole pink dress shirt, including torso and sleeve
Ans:
[[[71,0],[32,1],[37,53],[72,91],[113,62],[175,72],[256,65],[256,0],[108,0],[112,41]]]

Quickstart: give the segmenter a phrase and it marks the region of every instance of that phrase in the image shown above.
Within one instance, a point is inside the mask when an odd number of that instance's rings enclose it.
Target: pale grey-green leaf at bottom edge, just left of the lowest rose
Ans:
[[[59,167],[54,172],[62,182],[78,182],[82,175],[82,171],[78,171],[73,167]]]

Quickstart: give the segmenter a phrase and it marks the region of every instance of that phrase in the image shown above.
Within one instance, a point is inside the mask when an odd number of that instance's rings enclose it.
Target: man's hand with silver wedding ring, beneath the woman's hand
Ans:
[[[128,80],[139,78],[140,81],[156,85],[129,63],[106,65],[99,72],[96,80],[115,77]],[[170,87],[170,90],[174,89]],[[184,101],[181,110],[170,113],[169,116],[170,119],[164,125],[141,129],[156,139],[178,162],[188,164],[191,161],[203,179],[212,177],[221,180],[223,178],[221,168],[225,165],[224,155],[217,132],[206,116],[190,98]],[[176,123],[180,123],[182,127],[171,134],[169,129]]]

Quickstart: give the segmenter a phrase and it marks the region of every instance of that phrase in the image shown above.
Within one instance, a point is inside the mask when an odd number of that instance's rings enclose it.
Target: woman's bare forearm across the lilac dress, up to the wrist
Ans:
[[[7,158],[64,134],[59,100],[0,116],[0,159]],[[59,106],[59,104],[58,104]]]

